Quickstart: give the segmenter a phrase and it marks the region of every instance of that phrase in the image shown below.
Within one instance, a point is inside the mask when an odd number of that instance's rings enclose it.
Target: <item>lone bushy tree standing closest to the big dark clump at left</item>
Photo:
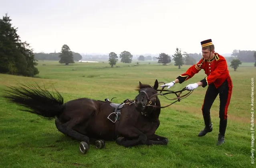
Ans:
[[[69,46],[66,44],[62,46],[59,57],[60,57],[60,60],[59,60],[60,64],[68,65],[68,64],[75,63],[73,58],[73,53],[70,50]]]

